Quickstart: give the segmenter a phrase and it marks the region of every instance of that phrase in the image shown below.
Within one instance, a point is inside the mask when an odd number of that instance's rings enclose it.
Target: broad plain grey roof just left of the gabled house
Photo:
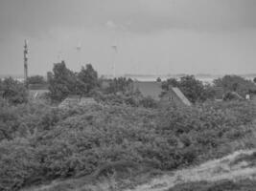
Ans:
[[[155,100],[160,100],[162,93],[161,83],[156,81],[135,81],[135,89],[138,89],[143,96],[151,96]]]

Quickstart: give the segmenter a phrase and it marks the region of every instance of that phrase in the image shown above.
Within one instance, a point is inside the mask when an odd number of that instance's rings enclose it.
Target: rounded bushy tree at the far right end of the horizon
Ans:
[[[221,88],[224,93],[236,92],[240,96],[245,96],[249,92],[256,91],[256,85],[238,75],[225,75],[214,80],[214,86]]]

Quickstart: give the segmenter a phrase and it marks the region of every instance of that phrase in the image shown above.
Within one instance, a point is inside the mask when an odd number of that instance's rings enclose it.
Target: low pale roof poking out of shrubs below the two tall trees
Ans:
[[[68,108],[73,106],[86,106],[94,104],[98,104],[98,102],[93,97],[68,96],[58,105],[58,108]]]

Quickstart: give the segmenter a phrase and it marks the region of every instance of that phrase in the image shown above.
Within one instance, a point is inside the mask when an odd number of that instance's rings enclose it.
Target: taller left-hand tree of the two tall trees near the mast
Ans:
[[[60,101],[68,95],[78,94],[76,74],[66,68],[64,61],[55,64],[53,73],[48,73],[47,78],[53,100]]]

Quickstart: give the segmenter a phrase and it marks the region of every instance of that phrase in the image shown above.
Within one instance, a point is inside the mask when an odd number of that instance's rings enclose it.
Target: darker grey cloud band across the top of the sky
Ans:
[[[0,34],[38,35],[55,27],[102,27],[130,32],[256,27],[255,0],[2,0]]]

